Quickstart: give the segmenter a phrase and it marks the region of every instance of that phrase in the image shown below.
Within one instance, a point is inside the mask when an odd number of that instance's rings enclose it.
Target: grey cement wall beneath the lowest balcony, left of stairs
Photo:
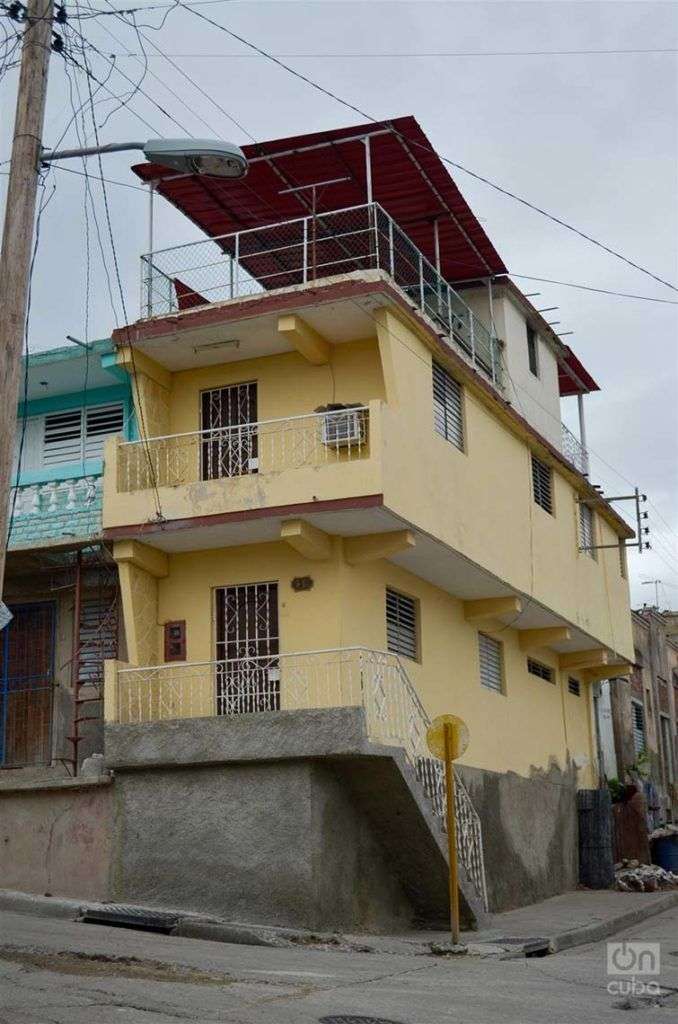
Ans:
[[[121,771],[113,899],[383,931],[413,911],[369,822],[311,761]]]

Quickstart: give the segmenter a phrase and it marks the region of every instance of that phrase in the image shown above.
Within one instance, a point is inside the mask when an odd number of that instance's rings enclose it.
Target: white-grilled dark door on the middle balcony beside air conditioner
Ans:
[[[257,385],[232,384],[202,394],[204,480],[256,473]]]

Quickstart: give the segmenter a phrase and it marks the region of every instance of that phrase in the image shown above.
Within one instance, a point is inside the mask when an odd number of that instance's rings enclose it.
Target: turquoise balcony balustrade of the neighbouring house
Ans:
[[[101,476],[19,484],[10,508],[10,549],[95,537],[101,532]]]

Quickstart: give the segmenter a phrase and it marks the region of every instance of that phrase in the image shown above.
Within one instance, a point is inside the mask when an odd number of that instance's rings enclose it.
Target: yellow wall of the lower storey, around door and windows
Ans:
[[[529,675],[516,631],[483,624],[485,632],[504,645],[506,672],[504,694],[484,689],[478,676],[477,629],[465,622],[460,601],[390,562],[348,565],[342,548],[336,540],[332,559],[323,562],[309,562],[282,542],[171,555],[169,574],[157,582],[159,648],[162,624],[183,618],[187,660],[213,659],[214,589],[276,581],[283,653],[354,645],[385,650],[385,588],[390,586],[419,601],[421,660],[401,660],[431,716],[451,712],[468,723],[471,743],[463,763],[526,774],[532,767],[547,768],[551,759],[564,767],[577,755],[588,759],[580,784],[591,783],[595,758],[585,683],[582,696],[575,697],[566,691],[567,673],[556,671],[557,685]],[[312,590],[294,592],[292,578],[306,574],[313,579]],[[556,665],[552,652],[536,656]],[[322,663],[320,658],[319,667]],[[174,671],[180,672],[180,666]],[[209,675],[200,670],[194,678],[196,702],[185,713],[213,714]],[[319,668],[313,692],[321,698],[315,702],[321,707],[339,702],[323,696],[323,678]],[[285,675],[283,683],[285,693]],[[354,702],[355,691],[351,692],[353,696],[347,696],[346,690],[343,702]],[[302,702],[299,690],[294,693],[296,697],[284,698],[285,707]]]

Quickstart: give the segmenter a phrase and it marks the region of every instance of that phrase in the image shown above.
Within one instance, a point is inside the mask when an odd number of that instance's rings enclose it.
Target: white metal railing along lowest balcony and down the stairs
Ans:
[[[433,813],[444,821],[444,769],[426,743],[430,720],[394,654],[345,647],[157,665],[120,670],[116,686],[117,721],[122,724],[363,708],[369,738],[402,748]],[[460,859],[486,908],[480,819],[459,777],[455,794]]]

